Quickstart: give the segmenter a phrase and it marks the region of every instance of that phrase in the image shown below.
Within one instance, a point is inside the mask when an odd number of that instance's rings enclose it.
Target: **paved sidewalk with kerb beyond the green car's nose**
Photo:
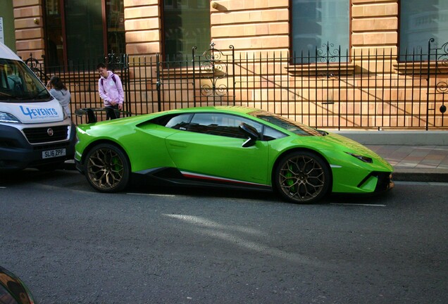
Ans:
[[[331,131],[354,139],[385,158],[393,178],[448,182],[448,131]]]

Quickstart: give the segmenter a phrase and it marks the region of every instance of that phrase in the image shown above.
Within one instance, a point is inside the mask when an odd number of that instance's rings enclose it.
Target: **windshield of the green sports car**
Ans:
[[[249,113],[249,115],[270,122],[273,125],[282,127],[283,129],[286,129],[287,131],[300,136],[323,136],[323,133],[318,132],[318,130],[316,129],[313,129],[306,125],[302,125],[299,122],[290,120],[288,118],[284,118],[280,115],[275,115],[273,113],[266,112],[265,110],[256,110],[254,112]]]

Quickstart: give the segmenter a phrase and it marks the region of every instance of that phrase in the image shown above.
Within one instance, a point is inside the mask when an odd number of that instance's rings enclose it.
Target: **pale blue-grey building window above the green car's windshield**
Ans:
[[[310,56],[302,63],[320,62],[320,56],[337,55],[339,48],[344,55],[349,49],[349,0],[292,0],[291,21],[294,56]]]

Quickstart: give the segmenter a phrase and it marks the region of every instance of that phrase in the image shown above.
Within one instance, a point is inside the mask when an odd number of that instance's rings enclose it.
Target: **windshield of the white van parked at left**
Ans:
[[[22,61],[0,58],[0,101],[49,101],[44,84]]]

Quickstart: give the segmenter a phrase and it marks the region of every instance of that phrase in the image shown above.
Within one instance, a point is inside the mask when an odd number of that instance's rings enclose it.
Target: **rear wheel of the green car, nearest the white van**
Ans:
[[[101,192],[125,189],[130,177],[130,165],[125,153],[112,144],[99,144],[87,153],[87,181]]]

